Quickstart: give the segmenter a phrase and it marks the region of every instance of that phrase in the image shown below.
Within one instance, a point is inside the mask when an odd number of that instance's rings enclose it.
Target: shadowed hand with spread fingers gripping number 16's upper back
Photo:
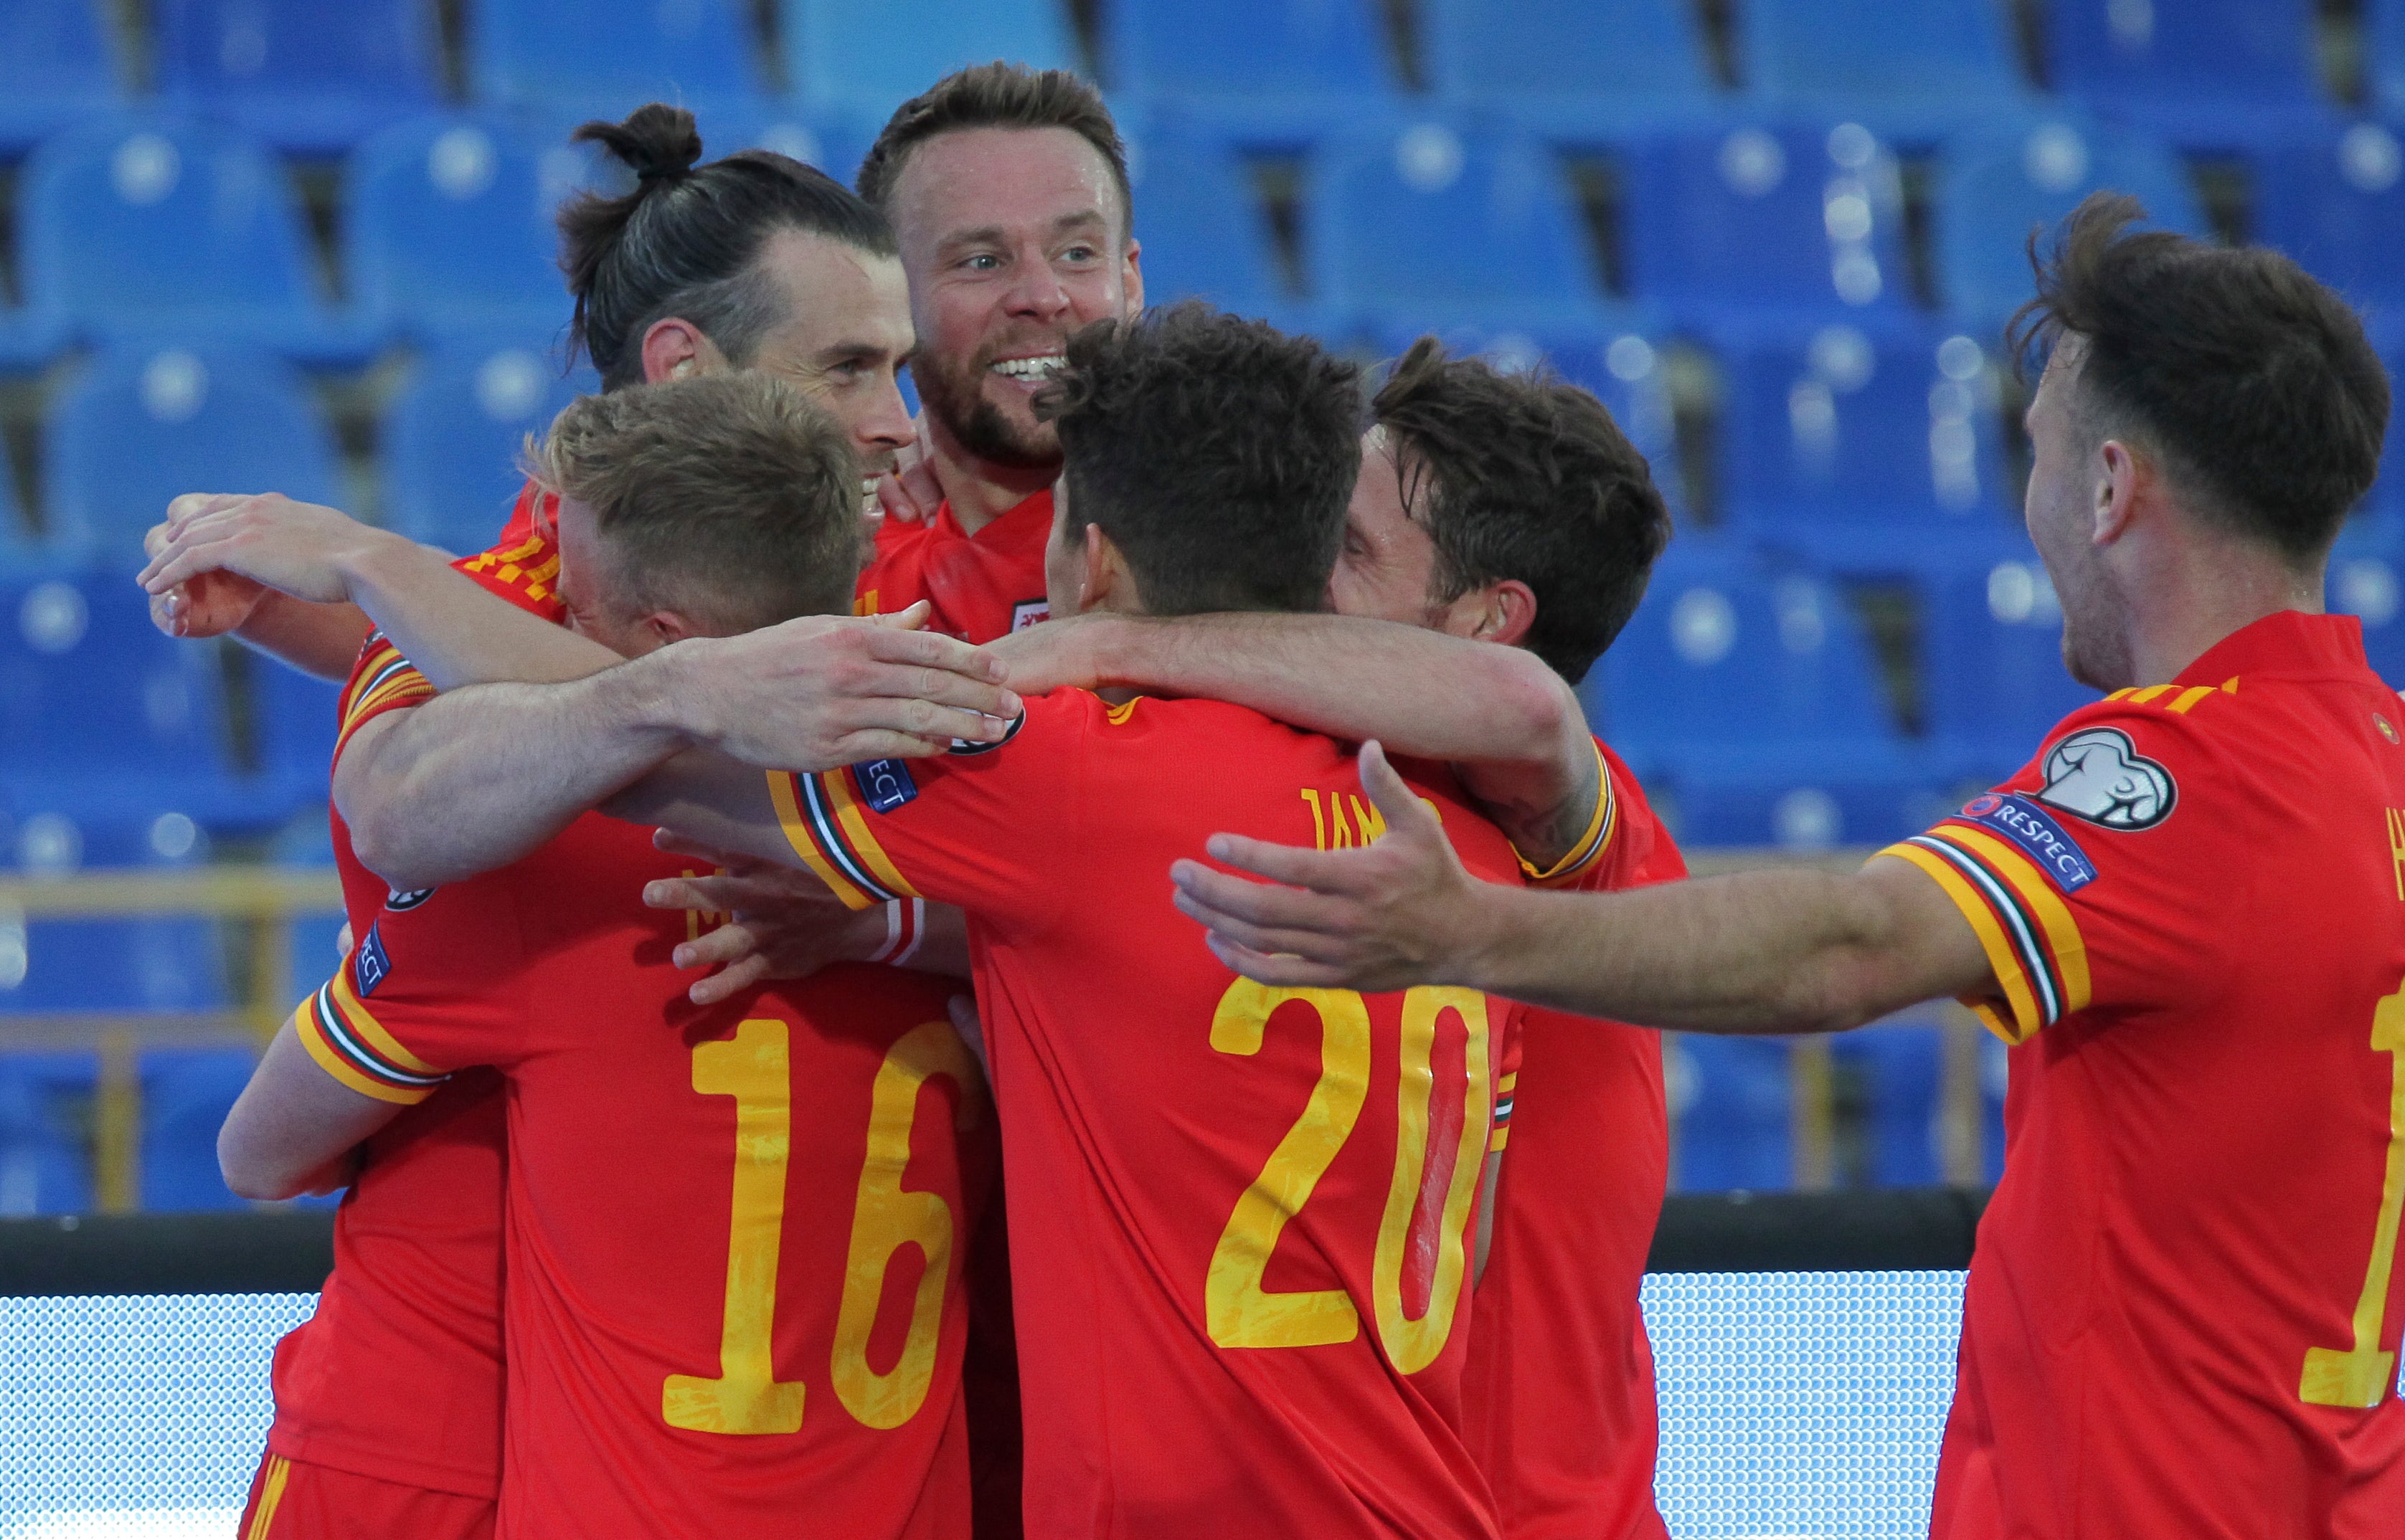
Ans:
[[[885,947],[885,911],[859,913],[808,872],[719,850],[659,829],[652,843],[707,862],[709,877],[664,877],[642,889],[652,908],[726,915],[705,937],[681,944],[678,968],[717,968],[685,990],[693,1004],[719,1004],[762,978],[808,978],[827,963],[866,963]]]

